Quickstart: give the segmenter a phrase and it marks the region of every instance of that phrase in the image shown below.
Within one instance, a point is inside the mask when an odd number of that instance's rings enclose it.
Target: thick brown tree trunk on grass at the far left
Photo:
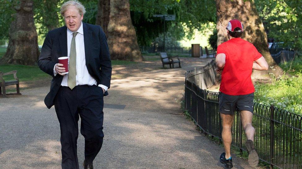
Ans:
[[[37,64],[40,52],[32,9],[31,0],[20,0],[20,3],[15,6],[15,20],[10,26],[8,48],[1,63]]]

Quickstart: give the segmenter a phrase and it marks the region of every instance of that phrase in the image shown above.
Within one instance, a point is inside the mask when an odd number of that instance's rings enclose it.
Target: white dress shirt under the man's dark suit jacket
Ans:
[[[86,67],[86,60],[85,60],[85,46],[84,46],[84,31],[83,31],[83,23],[81,23],[80,28],[76,31],[78,34],[76,35],[76,85],[97,85],[97,81],[88,73]],[[67,57],[69,58],[70,55],[70,46],[71,46],[71,39],[73,32],[71,32],[67,28]],[[56,64],[57,65],[57,64]],[[55,66],[56,66],[55,65]],[[54,66],[54,68],[55,68]],[[54,69],[54,75],[57,75],[57,72]],[[68,74],[63,76],[63,80],[61,86],[68,86],[67,85]],[[98,85],[99,87],[103,88],[107,91],[108,87],[105,85]]]

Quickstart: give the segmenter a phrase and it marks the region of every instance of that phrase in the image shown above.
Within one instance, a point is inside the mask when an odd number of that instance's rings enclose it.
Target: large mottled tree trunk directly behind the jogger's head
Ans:
[[[268,71],[254,70],[253,77],[265,78],[268,72],[275,74],[275,76],[283,74],[283,70],[270,55],[267,46],[267,35],[252,1],[216,0],[216,8],[218,30],[217,45],[228,40],[226,33],[228,21],[238,19],[242,22],[244,28],[242,38],[254,44],[269,65]]]

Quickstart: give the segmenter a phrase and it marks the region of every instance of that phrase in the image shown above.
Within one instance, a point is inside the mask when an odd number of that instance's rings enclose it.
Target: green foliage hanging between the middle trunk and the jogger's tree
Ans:
[[[153,14],[175,14],[175,21],[166,22],[166,31],[175,40],[192,38],[195,29],[204,29],[203,23],[216,22],[215,2],[208,0],[131,0],[130,10],[140,46],[151,45],[163,34],[163,20]]]

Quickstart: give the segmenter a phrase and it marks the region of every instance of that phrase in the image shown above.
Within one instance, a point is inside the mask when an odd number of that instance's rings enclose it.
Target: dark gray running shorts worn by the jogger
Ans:
[[[254,111],[254,93],[248,95],[226,95],[219,92],[219,112],[226,115],[234,115],[238,111]]]

